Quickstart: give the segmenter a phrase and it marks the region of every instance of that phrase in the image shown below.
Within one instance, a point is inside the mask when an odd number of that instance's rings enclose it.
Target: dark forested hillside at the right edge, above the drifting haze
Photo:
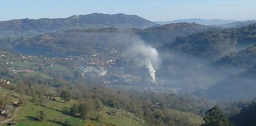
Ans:
[[[202,58],[219,59],[239,47],[255,43],[256,25],[241,29],[213,30],[179,36],[174,42],[163,46],[176,53],[187,53]]]

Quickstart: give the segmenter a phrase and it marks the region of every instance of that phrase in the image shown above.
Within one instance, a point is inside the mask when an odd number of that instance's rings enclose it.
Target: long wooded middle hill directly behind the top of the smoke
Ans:
[[[175,40],[177,36],[187,36],[195,32],[210,30],[211,27],[177,23],[154,27],[150,29],[88,29],[67,30],[42,34],[33,38],[15,40],[2,39],[9,49],[16,49],[25,54],[40,54],[48,56],[66,56],[100,53],[106,54],[111,49],[126,50],[131,43],[144,40],[147,44],[157,47]],[[37,51],[33,51],[36,49]]]

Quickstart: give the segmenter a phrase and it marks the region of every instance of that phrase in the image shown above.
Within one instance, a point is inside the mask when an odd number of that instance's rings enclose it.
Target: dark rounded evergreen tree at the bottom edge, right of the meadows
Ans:
[[[204,123],[201,126],[234,126],[217,106],[205,113],[203,121]]]

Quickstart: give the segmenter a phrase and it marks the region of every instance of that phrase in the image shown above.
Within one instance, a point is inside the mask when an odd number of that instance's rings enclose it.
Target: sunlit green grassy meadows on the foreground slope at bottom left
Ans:
[[[91,114],[100,114],[99,120],[81,119],[79,116],[71,117],[68,113],[69,108],[78,103],[78,101],[70,100],[64,102],[59,97],[55,97],[55,100],[50,100],[49,97],[43,96],[44,100],[40,100],[38,95],[35,96],[20,96],[15,92],[9,90],[0,89],[0,95],[12,94],[9,97],[12,101],[17,100],[15,97],[20,97],[23,100],[23,105],[19,107],[17,117],[12,120],[17,122],[19,126],[47,126],[47,125],[65,125],[70,126],[84,125],[85,123],[96,122],[98,125],[111,124],[115,126],[145,126],[148,124],[146,117],[141,120],[141,115],[138,113],[131,113],[120,108],[104,107],[100,111],[92,110]],[[39,115],[39,111],[42,110],[45,113],[44,121],[33,121]],[[157,110],[157,109],[156,109]],[[120,111],[120,114],[109,115],[108,113],[113,111]],[[202,123],[202,117],[192,114],[190,112],[183,112],[174,109],[168,109],[170,117],[176,121],[184,121],[193,125]],[[6,126],[6,124],[4,125]]]

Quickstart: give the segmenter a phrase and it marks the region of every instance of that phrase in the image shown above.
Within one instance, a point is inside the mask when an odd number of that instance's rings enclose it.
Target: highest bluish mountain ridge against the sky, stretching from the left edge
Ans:
[[[57,19],[15,19],[0,22],[0,37],[36,36],[49,32],[70,29],[90,28],[138,28],[146,29],[157,26],[156,23],[143,19],[137,15],[101,14],[74,15]]]

